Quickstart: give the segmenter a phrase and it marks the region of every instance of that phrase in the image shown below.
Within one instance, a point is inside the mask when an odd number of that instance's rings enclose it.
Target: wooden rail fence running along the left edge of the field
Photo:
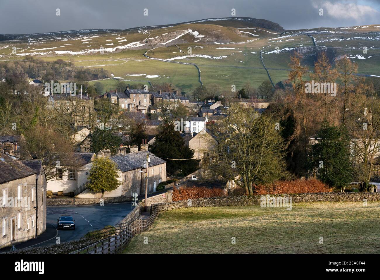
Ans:
[[[133,236],[146,231],[153,224],[158,215],[158,207],[156,207],[149,218],[138,219],[130,223],[124,231],[118,235],[114,235],[93,243],[87,247],[71,252],[70,254],[112,254],[122,249]]]

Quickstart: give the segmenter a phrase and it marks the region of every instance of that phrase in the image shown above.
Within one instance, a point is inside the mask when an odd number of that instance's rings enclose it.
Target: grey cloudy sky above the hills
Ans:
[[[380,0],[1,0],[0,34],[128,29],[228,18],[232,9],[287,30],[380,25]]]

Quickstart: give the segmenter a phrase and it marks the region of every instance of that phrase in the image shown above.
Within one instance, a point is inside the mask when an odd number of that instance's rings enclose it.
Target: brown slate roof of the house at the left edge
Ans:
[[[36,174],[37,171],[17,160],[16,157],[0,156],[0,184]]]

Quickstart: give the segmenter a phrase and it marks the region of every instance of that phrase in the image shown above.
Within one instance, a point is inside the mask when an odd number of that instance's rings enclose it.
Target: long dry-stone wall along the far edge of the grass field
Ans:
[[[247,206],[260,205],[260,198],[266,195],[255,196],[227,196],[207,197],[189,200],[173,201],[152,205],[152,210],[159,207],[159,211],[187,207],[209,206]],[[297,202],[358,202],[367,199],[368,202],[380,201],[380,192],[316,192],[304,194],[271,194],[270,197],[291,197],[292,203]]]

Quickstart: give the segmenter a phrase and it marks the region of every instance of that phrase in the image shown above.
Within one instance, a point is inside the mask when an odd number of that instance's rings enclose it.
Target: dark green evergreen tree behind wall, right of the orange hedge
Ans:
[[[331,126],[324,121],[312,146],[312,168],[317,169],[317,177],[330,187],[344,191],[350,183],[350,137],[344,126]]]

